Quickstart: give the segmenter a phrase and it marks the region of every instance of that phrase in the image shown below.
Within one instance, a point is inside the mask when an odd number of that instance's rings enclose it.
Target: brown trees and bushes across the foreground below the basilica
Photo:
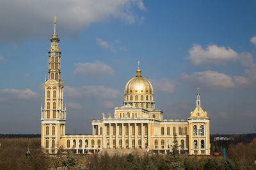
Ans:
[[[256,169],[256,139],[251,143],[231,144],[227,159],[177,154],[129,155],[45,155],[40,138],[0,139],[0,169]],[[26,156],[29,150],[31,155]],[[175,151],[176,150],[176,151]],[[61,152],[60,152],[61,153]]]

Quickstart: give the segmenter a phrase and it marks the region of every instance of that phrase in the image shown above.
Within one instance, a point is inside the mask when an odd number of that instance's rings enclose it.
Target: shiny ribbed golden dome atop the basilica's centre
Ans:
[[[141,69],[136,70],[136,77],[128,81],[125,86],[126,94],[153,94],[153,87],[151,83],[141,76]]]

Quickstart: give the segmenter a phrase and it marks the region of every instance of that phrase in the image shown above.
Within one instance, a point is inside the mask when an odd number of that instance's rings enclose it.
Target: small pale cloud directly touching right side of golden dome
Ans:
[[[168,92],[172,93],[175,90],[175,83],[173,81],[168,80],[167,78],[162,78],[160,80],[150,80],[154,90],[159,92]]]

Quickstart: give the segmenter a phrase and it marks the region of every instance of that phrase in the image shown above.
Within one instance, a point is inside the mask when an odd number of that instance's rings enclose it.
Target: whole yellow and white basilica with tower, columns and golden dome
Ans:
[[[188,112],[187,119],[164,119],[163,111],[155,108],[153,87],[142,76],[140,63],[134,78],[125,86],[123,106],[116,107],[113,114],[102,113],[100,120],[92,120],[90,135],[65,134],[66,106],[63,106],[59,41],[54,17],[49,72],[41,106],[41,146],[46,153],[57,153],[59,149],[86,154],[108,149],[167,153],[177,138],[180,154],[210,154],[210,118],[201,107],[199,90],[195,110]]]

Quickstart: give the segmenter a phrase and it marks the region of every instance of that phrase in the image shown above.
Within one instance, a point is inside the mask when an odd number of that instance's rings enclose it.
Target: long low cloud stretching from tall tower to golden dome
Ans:
[[[83,97],[104,97],[115,99],[122,95],[117,89],[107,88],[101,85],[82,86],[80,88],[65,87],[65,95],[74,99],[81,99]]]

